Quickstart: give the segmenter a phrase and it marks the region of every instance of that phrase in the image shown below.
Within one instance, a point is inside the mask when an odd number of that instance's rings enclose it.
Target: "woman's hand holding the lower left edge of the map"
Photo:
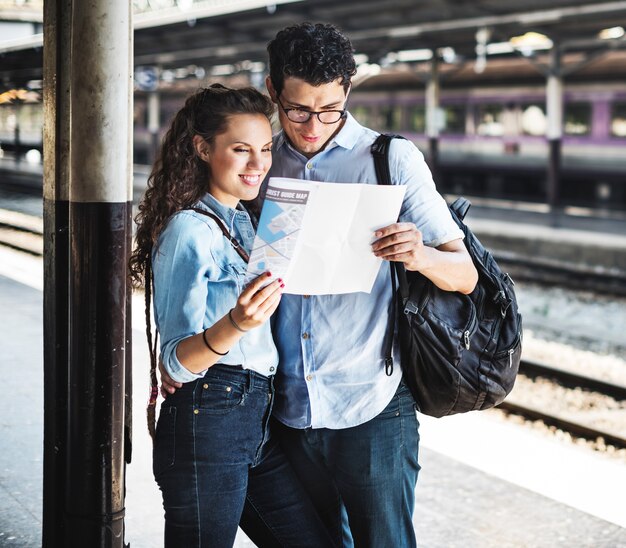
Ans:
[[[248,331],[258,327],[266,322],[278,307],[281,289],[285,284],[278,278],[263,287],[271,275],[270,272],[261,274],[239,295],[237,304],[231,311],[231,318],[241,330]]]

